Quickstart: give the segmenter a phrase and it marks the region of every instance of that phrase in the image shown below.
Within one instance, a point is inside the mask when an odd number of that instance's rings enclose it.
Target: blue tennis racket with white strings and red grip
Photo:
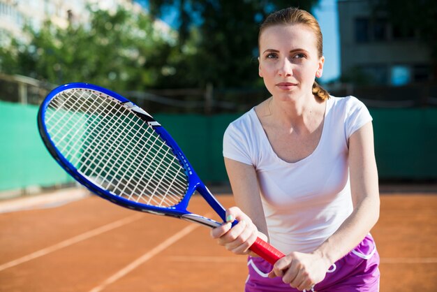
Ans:
[[[86,83],[61,85],[40,105],[38,129],[59,165],[101,198],[210,228],[221,225],[187,210],[198,191],[225,221],[225,209],[170,134],[119,94]],[[250,249],[272,264],[284,256],[260,238]]]

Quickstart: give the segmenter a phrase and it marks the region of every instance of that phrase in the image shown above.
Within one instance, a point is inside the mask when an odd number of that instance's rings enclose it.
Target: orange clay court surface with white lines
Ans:
[[[229,194],[218,200],[232,205]],[[243,291],[244,256],[218,247],[202,226],[82,189],[3,200],[0,209],[0,291]],[[211,212],[198,196],[188,209]],[[436,230],[436,189],[382,189],[372,231],[380,291],[436,291]]]

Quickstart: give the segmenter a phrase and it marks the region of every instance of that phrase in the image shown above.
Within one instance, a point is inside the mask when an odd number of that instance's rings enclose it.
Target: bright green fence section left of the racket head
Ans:
[[[35,105],[0,102],[0,190],[72,182],[38,134]]]

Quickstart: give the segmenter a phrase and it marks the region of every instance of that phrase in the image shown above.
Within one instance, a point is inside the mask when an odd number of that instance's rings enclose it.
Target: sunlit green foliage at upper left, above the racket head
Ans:
[[[66,29],[45,22],[40,30],[24,27],[30,43],[13,39],[0,50],[1,71],[54,84],[90,82],[114,90],[153,86],[171,48],[147,15],[119,8],[91,11],[89,24]],[[157,61],[159,59],[160,61]]]

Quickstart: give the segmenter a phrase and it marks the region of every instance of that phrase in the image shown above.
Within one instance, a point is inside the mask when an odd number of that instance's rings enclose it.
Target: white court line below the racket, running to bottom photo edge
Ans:
[[[132,263],[129,263],[126,265],[126,267],[122,268],[118,272],[116,272],[114,275],[109,277],[108,279],[105,279],[105,281],[102,282],[102,284],[96,286],[94,289],[91,289],[89,292],[99,292],[105,289],[106,286],[116,282],[121,277],[124,277],[132,270],[135,270],[139,265],[142,265],[142,263],[145,263],[146,261],[149,261],[150,258],[156,256],[156,254],[159,254],[161,251],[166,249],[167,247],[170,247],[173,243],[177,242],[181,238],[183,238],[185,235],[188,235],[188,233],[191,233],[195,228],[198,228],[200,226],[199,224],[190,224],[186,226],[186,228],[182,229],[182,231],[179,231],[178,233],[175,233],[174,235],[170,236],[170,238],[167,238],[160,244],[158,244],[154,249],[151,249],[150,251],[147,251],[147,253],[143,254],[139,258],[137,258]]]

